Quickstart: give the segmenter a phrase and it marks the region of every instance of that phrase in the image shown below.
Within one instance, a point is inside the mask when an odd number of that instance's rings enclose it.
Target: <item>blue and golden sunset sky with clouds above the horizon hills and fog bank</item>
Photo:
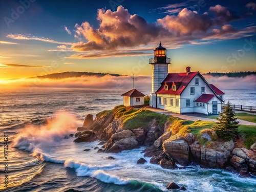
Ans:
[[[0,0],[0,80],[66,71],[256,71],[256,1]]]

